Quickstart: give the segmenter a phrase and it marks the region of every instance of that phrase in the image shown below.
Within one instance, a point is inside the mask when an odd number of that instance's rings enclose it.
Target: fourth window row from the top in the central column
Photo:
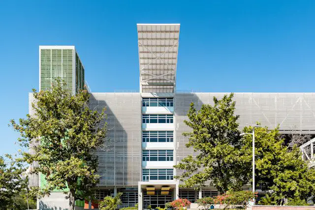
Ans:
[[[173,150],[143,150],[142,161],[173,161]]]

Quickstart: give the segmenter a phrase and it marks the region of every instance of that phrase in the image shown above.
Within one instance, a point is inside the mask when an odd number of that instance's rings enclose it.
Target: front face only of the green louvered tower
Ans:
[[[51,90],[57,78],[66,83],[63,89],[72,92],[73,50],[40,49],[40,90]]]

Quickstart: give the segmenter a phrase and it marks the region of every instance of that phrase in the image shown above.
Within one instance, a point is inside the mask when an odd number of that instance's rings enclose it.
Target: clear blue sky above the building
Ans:
[[[315,0],[1,0],[0,155],[38,88],[38,46],[75,45],[92,91],[139,90],[137,23],[180,23],[178,90],[314,92]]]

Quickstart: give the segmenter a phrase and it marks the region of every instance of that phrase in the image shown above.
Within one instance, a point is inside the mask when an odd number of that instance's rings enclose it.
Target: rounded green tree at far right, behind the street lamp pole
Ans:
[[[244,132],[252,132],[245,127]],[[243,159],[252,157],[252,136],[244,136]],[[248,157],[246,157],[248,156]],[[252,162],[248,161],[247,170]],[[264,191],[272,191],[278,205],[286,199],[305,200],[315,194],[315,170],[302,160],[299,148],[288,148],[281,138],[278,127],[255,128],[255,180]]]

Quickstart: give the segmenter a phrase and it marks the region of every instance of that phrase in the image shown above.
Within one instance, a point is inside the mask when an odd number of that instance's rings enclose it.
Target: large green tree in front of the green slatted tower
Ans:
[[[33,141],[40,142],[33,147],[34,154],[22,155],[29,164],[38,162],[39,167],[32,172],[43,174],[47,181],[41,192],[63,190],[73,210],[75,200],[91,195],[98,182],[93,151],[102,145],[106,126],[102,121],[104,110],[98,113],[89,109],[87,90],[72,95],[63,90],[64,85],[57,80],[51,91],[33,90],[34,116],[27,115],[18,123],[11,120],[11,124],[20,132],[18,141],[22,146],[28,148]]]

